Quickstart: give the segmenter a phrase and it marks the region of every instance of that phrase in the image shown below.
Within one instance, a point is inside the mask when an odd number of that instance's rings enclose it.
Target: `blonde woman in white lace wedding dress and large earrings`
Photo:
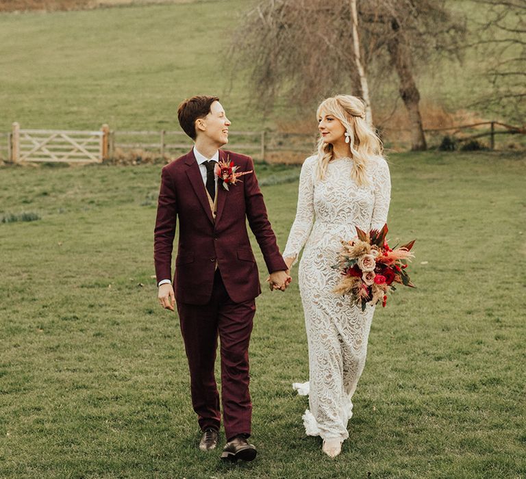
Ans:
[[[309,395],[310,410],[303,415],[307,434],[321,436],[323,452],[334,457],[349,437],[351,398],[364,370],[375,307],[362,312],[348,296],[334,294],[340,274],[331,265],[340,240],[355,237],[355,226],[364,231],[384,226],[391,185],[362,100],[334,96],[319,105],[317,116],[318,154],[301,168],[296,218],[283,256],[290,268],[305,246],[299,287],[310,380],[294,387]]]

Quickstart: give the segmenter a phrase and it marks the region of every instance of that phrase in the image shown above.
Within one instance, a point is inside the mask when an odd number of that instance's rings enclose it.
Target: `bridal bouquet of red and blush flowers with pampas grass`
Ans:
[[[369,233],[357,227],[358,238],[342,241],[338,264],[331,266],[342,274],[334,292],[349,294],[362,311],[368,303],[376,305],[379,300],[385,307],[388,291],[396,289],[393,283],[414,287],[405,268],[414,256],[410,250],[415,240],[390,248],[386,241],[387,231],[387,224]]]

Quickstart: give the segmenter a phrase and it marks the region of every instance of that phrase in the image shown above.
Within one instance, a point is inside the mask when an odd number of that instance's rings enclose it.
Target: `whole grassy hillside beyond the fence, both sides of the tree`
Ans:
[[[299,116],[286,99],[262,118],[258,105],[247,106],[247,73],[231,74],[231,32],[250,3],[205,0],[0,14],[0,132],[10,131],[14,121],[23,128],[94,129],[106,122],[114,130],[178,129],[177,105],[195,93],[219,94],[233,130],[279,124],[288,131],[311,131],[310,118]],[[452,5],[470,18],[481,16],[471,1]],[[484,88],[483,65],[479,54],[468,51],[462,66],[443,60],[421,68],[418,87],[427,127],[446,118],[444,109],[458,112],[473,101]],[[385,120],[397,101],[402,114],[389,125],[405,125],[396,76],[387,75],[381,86],[372,81],[371,87],[381,99],[375,120]],[[477,112],[461,112],[455,124],[473,116]]]

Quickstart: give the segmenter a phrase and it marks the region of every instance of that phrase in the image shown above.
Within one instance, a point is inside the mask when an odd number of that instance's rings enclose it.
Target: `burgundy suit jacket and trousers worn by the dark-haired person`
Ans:
[[[219,151],[220,160],[227,156],[238,166],[238,172],[254,170],[251,157]],[[218,185],[214,221],[199,166],[190,151],[162,169],[155,222],[155,272],[161,281],[171,277],[179,217],[173,284],[190,367],[192,404],[201,429],[218,428],[220,424],[214,362],[218,336],[221,339],[221,396],[227,439],[251,432],[248,348],[255,297],[261,287],[246,220],[268,272],[287,269],[255,173],[241,179],[230,185],[229,191]]]

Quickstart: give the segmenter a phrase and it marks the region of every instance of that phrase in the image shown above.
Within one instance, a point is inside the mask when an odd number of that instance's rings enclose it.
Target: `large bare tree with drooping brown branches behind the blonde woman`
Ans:
[[[262,0],[243,18],[234,38],[236,56],[252,66],[252,85],[268,106],[278,92],[309,106],[343,89],[366,100],[366,79],[381,81],[386,68],[394,70],[410,117],[412,149],[425,149],[414,72],[438,54],[455,52],[463,25],[453,21],[445,0],[360,0],[356,20],[353,3]]]

